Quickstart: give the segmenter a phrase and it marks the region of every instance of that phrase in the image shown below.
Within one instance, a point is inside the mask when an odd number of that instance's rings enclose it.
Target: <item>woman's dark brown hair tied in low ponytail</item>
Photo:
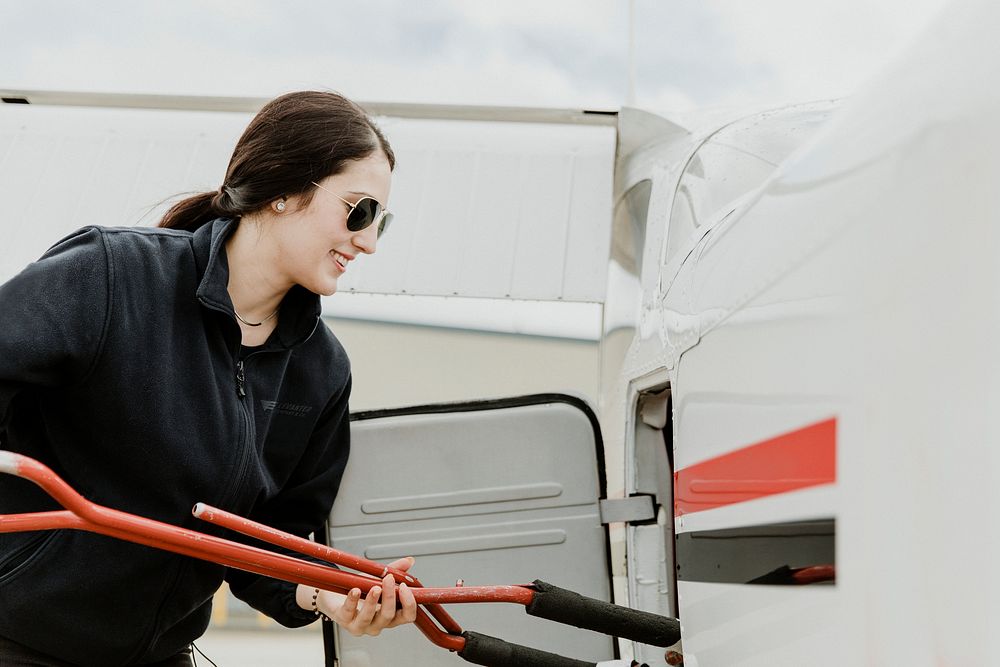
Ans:
[[[394,169],[389,142],[364,109],[346,97],[319,91],[282,95],[265,104],[243,131],[222,186],[177,202],[159,226],[193,231],[291,195],[308,205],[316,192],[311,181],[337,174],[351,160],[379,149]]]

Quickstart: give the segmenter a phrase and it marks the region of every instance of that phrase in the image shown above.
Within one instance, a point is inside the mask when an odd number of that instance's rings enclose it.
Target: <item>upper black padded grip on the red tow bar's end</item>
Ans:
[[[681,638],[675,618],[601,602],[544,581],[533,586],[535,597],[526,608],[532,616],[651,646],[673,646]]]

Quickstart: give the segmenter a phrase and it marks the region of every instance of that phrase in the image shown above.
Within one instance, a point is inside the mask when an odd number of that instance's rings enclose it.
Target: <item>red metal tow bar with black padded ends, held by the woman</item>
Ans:
[[[358,573],[345,572],[293,556],[135,516],[88,501],[44,464],[14,452],[0,451],[0,473],[16,475],[34,482],[65,508],[49,512],[0,514],[0,533],[53,529],[85,530],[344,594],[352,588],[367,593],[373,586],[381,586],[381,578],[392,573],[397,585],[405,582],[410,587],[417,604],[421,605],[417,609],[415,621],[417,628],[436,645],[456,651],[462,658],[474,664],[494,667],[504,665],[593,667],[596,663],[564,658],[510,644],[487,635],[463,631],[441,605],[513,602],[524,605],[527,613],[532,616],[644,644],[666,647],[680,639],[680,626],[676,619],[594,600],[542,581],[515,586],[425,588],[408,572],[275,530],[202,503],[195,505],[193,510],[199,519],[341,567],[357,570]]]

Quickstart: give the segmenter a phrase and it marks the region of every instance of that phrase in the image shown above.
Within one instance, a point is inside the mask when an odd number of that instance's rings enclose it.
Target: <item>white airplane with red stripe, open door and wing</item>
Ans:
[[[551,326],[524,318],[545,302],[599,329],[601,382],[596,404],[554,391],[356,414],[331,544],[415,555],[425,583],[537,578],[679,619],[665,651],[456,611],[609,665],[1000,664],[997,27],[995,4],[956,3],[850,100],[699,128],[633,109],[369,105],[419,166],[396,179],[402,240],[351,289],[408,295],[377,302],[384,317],[494,299],[490,327],[520,333]],[[92,222],[86,198],[132,196],[128,165],[156,141],[170,160],[142,182],[221,173],[262,102],[2,96],[27,103],[0,107],[5,201],[51,166],[38,146],[118,165],[47,203],[68,213],[22,255]],[[406,268],[417,254],[436,273]],[[365,474],[387,457],[398,478]],[[416,633],[328,641],[344,667],[461,662]]]

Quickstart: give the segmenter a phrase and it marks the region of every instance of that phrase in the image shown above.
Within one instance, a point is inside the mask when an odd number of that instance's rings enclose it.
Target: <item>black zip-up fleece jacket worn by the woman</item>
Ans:
[[[349,362],[294,287],[239,373],[235,227],[85,228],[0,286],[0,448],[159,521],[224,534],[192,517],[201,501],[319,531],[347,462]],[[0,513],[54,506],[0,474]],[[93,533],[0,533],[0,636],[80,665],[153,662],[204,632],[223,578],[285,625],[313,620],[292,584]]]

